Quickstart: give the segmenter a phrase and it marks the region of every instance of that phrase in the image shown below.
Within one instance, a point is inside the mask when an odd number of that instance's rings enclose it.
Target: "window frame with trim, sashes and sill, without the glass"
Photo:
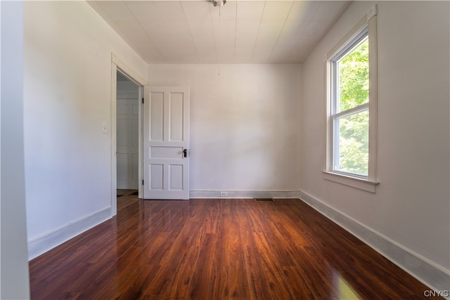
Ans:
[[[377,32],[376,32],[376,6],[373,6],[368,14],[364,16],[338,44],[336,44],[326,55],[325,82],[326,82],[326,159],[323,178],[335,181],[354,188],[375,193],[376,180],[376,157],[377,157]],[[368,37],[369,43],[369,100],[368,103],[352,107],[343,112],[335,112],[335,104],[338,87],[333,78],[338,78],[335,67],[338,60],[350,53],[356,45]],[[333,67],[334,64],[334,67]],[[334,81],[334,82],[333,82]],[[368,110],[368,176],[360,176],[345,171],[335,170],[335,120],[345,115]]]

